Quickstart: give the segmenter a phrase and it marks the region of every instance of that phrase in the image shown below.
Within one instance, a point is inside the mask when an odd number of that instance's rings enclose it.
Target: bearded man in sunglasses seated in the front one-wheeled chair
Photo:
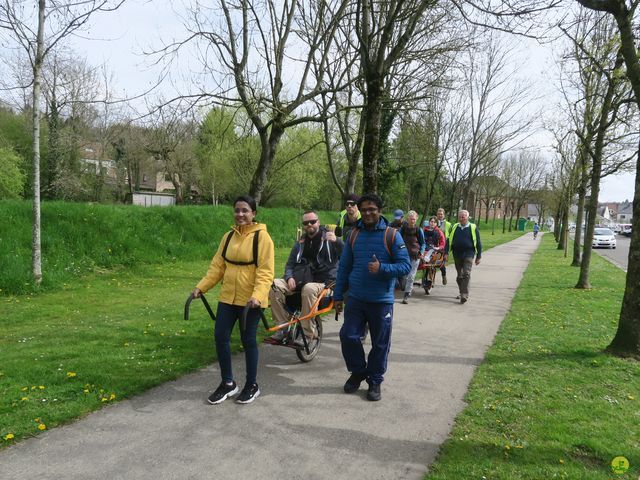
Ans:
[[[284,278],[275,279],[269,292],[271,313],[278,325],[289,320],[284,306],[285,296],[297,291],[301,293],[301,312],[304,316],[311,311],[324,286],[335,280],[338,271],[342,240],[320,225],[320,219],[314,210],[304,212],[302,226],[305,233],[289,253]],[[318,336],[315,325],[309,320],[302,321],[301,325],[307,340],[312,342]],[[278,330],[272,338],[282,340],[283,334],[283,330]],[[297,341],[302,343],[302,339]]]

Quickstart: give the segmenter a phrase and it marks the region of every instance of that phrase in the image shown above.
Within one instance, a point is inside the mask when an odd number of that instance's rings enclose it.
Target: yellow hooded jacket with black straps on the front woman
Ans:
[[[252,262],[253,236],[257,231],[260,231],[258,236],[257,267],[253,263],[250,265],[234,265],[222,258],[222,250],[227,241],[227,236],[233,235],[227,247],[227,259],[233,262]],[[244,306],[249,301],[249,298],[254,297],[260,301],[262,308],[266,308],[269,306],[269,289],[273,283],[274,272],[273,240],[267,233],[267,226],[264,223],[234,225],[231,232],[222,237],[207,274],[196,287],[204,293],[215,287],[222,280],[218,301],[230,305]]]

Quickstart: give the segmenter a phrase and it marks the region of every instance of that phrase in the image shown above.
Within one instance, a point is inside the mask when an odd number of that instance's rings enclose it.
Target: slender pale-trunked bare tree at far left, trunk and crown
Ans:
[[[40,102],[42,66],[58,44],[83,29],[96,12],[113,11],[124,0],[38,0],[36,15],[26,0],[3,0],[0,3],[0,31],[23,48],[32,68],[33,95],[33,239],[32,274],[36,284],[42,282],[42,253],[40,241]],[[45,35],[45,25],[48,33]]]

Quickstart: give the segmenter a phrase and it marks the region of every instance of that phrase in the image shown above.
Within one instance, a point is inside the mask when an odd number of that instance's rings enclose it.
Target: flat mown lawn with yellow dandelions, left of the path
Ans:
[[[276,249],[277,275],[288,253]],[[176,260],[102,270],[40,294],[0,296],[0,448],[215,361],[201,302],[182,319],[207,267]],[[215,309],[217,288],[207,297]],[[232,349],[240,348],[236,327]]]

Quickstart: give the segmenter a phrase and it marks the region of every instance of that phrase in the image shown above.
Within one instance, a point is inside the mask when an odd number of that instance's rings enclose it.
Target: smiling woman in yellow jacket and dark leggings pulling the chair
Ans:
[[[222,382],[208,399],[213,405],[222,403],[238,393],[238,386],[233,380],[231,370],[230,338],[231,330],[246,306],[251,307],[245,331],[242,332],[247,378],[236,402],[251,403],[260,395],[256,380],[256,331],[260,320],[260,308],[269,306],[269,289],[275,270],[273,241],[267,233],[267,227],[263,223],[253,221],[256,216],[255,200],[249,196],[240,196],[233,205],[235,225],[222,237],[207,275],[193,290],[193,295],[197,298],[222,280],[215,326]]]

